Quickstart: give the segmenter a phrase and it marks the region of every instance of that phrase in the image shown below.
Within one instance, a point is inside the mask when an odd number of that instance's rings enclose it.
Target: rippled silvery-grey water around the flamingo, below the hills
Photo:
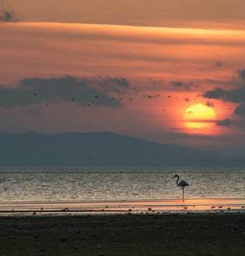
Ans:
[[[245,170],[0,169],[0,201],[150,200],[181,198],[174,174],[188,181],[185,198],[245,198]]]

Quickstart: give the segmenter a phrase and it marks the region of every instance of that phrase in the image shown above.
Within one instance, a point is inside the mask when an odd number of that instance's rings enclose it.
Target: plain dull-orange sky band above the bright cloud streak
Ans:
[[[4,0],[21,21],[135,26],[244,27],[243,0]]]

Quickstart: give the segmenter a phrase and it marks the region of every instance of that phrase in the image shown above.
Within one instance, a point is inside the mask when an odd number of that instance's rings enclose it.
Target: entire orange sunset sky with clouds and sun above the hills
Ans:
[[[0,3],[0,132],[245,145],[244,1]]]

